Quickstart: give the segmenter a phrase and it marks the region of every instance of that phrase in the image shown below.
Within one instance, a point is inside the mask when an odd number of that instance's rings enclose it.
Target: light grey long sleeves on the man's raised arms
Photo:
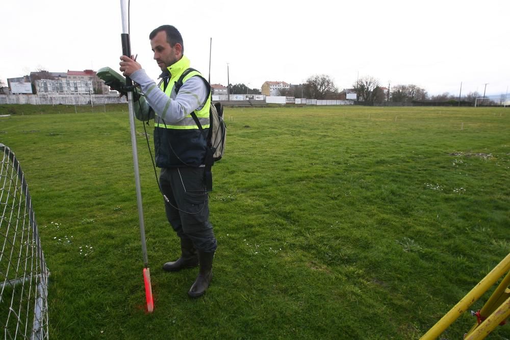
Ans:
[[[145,94],[145,100],[140,97],[139,102],[134,105],[136,117],[140,120],[154,118],[154,116],[149,116],[150,106],[167,123],[176,123],[191,112],[201,109],[209,96],[205,83],[199,77],[188,79],[175,99],[168,97],[150,79],[144,69],[133,72],[131,79],[140,85],[142,93]]]

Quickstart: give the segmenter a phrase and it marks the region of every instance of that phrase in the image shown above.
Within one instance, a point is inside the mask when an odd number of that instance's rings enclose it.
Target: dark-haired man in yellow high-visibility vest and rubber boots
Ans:
[[[165,212],[170,225],[181,239],[181,257],[163,265],[174,272],[199,266],[199,274],[188,292],[190,297],[203,295],[212,278],[216,238],[209,222],[209,204],[204,180],[207,142],[190,115],[195,112],[200,125],[209,129],[211,93],[197,71],[177,82],[190,61],[184,56],[181,33],[163,25],[149,35],[154,59],[163,73],[158,87],[139,63],[120,57],[120,71],[136,82],[145,95],[134,103],[136,117],[155,120],[154,146],[156,165],[161,168],[159,183],[165,196]]]

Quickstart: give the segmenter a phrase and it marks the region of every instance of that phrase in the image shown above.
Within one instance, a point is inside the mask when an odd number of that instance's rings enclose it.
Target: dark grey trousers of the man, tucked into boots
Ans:
[[[168,222],[180,238],[188,238],[199,251],[214,252],[216,238],[209,222],[209,197],[203,181],[204,168],[162,168],[160,186]]]

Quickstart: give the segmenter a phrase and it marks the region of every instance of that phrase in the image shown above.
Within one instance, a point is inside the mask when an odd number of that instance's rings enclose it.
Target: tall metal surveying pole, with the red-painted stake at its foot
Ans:
[[[129,37],[129,22],[127,17],[127,7],[125,0],[120,0],[120,12],[122,16],[122,54],[131,58],[131,42]],[[133,82],[130,77],[126,77],[127,89],[127,107],[129,108],[129,122],[131,126],[131,147],[133,150],[133,164],[135,168],[136,201],[138,204],[138,220],[140,222],[140,238],[142,241],[143,253],[143,281],[145,284],[145,300],[147,302],[147,311],[151,313],[154,310],[154,299],[152,299],[152,287],[150,285],[150,272],[147,259],[147,245],[145,244],[145,227],[143,224],[142,191],[140,189],[140,174],[138,169],[138,151],[136,146],[135,131],[135,110],[133,109]]]

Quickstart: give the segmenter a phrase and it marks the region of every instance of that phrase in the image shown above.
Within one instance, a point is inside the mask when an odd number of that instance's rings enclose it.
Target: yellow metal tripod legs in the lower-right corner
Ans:
[[[510,271],[510,254],[508,254],[494,269],[487,274],[478,284],[459,301],[446,315],[441,318],[432,328],[426,332],[420,340],[436,339],[444,332],[458,317],[464,313],[469,306],[478,300],[496,281],[506,272]],[[491,313],[482,323],[478,322],[467,333],[466,339],[479,340],[486,337],[498,324],[510,316],[510,272],[501,281],[496,291],[492,294],[487,303],[480,310],[481,316]]]

